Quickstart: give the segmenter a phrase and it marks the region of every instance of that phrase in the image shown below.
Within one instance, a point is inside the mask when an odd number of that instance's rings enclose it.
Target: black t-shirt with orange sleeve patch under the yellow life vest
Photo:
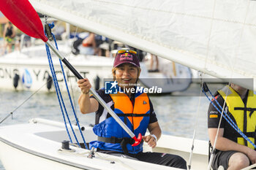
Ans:
[[[246,94],[246,97],[243,99],[244,101],[244,104],[246,105],[246,101],[247,101],[247,96],[248,96],[248,91],[247,91],[247,94]],[[219,102],[219,105],[221,107],[223,107],[223,104],[224,104],[224,98],[222,98],[222,96],[219,95],[219,93],[217,94],[217,96],[215,96],[215,98],[217,99],[217,101]],[[213,100],[212,100],[213,101]],[[221,117],[221,112],[222,112],[222,109],[218,106],[217,102],[216,101],[213,101],[214,105],[216,107],[219,108],[219,111],[214,107],[213,104],[210,103],[209,107],[208,107],[208,128],[218,128],[218,125],[219,125],[219,120],[220,120],[220,117]],[[233,117],[233,115],[228,112],[228,108],[227,108],[227,105],[225,104],[224,106],[224,110],[225,112],[227,112],[227,115],[229,115],[229,117],[231,118],[231,120],[233,120],[234,123],[236,123],[236,120],[235,118]],[[223,115],[225,115],[225,113],[223,112]],[[242,115],[244,116],[244,115]],[[220,123],[220,126],[219,128],[225,128],[225,131],[224,131],[224,136],[227,134],[228,136],[230,136],[230,134],[236,134],[236,130],[232,128],[232,126],[227,123],[227,120],[225,120],[224,117],[222,117],[222,122]]]

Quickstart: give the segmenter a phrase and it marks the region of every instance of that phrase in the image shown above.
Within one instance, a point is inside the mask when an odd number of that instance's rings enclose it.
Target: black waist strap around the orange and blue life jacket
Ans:
[[[106,143],[111,143],[111,144],[120,144],[122,150],[124,151],[124,154],[128,154],[128,149],[127,149],[127,144],[134,144],[135,140],[129,137],[124,137],[124,138],[117,138],[117,137],[102,137],[98,136],[98,141],[99,142],[106,142]]]

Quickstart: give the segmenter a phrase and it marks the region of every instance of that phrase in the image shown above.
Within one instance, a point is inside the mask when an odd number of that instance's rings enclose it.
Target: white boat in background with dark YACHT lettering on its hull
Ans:
[[[71,47],[63,42],[59,45],[59,50],[83,77],[91,80],[93,88],[99,89],[104,87],[104,81],[112,78],[113,58],[97,55],[73,55]],[[66,90],[59,58],[56,58],[54,53],[52,55],[59,86],[61,90]],[[185,66],[176,65],[178,66],[176,66],[176,69],[179,74],[173,75],[173,70],[169,69],[171,67],[166,62],[162,63],[162,68],[167,69],[157,73],[148,72],[146,63],[141,62],[142,73],[140,81],[148,88],[153,86],[162,88],[162,93],[186,90],[191,83],[190,69]],[[26,47],[21,49],[21,51],[17,50],[8,53],[0,58],[0,88],[9,90],[36,91],[40,89],[40,91],[55,91],[53,81],[50,80],[52,74],[49,68],[45,45]],[[78,91],[77,78],[66,66],[64,66],[64,72],[69,87]],[[156,78],[157,82],[155,81]]]

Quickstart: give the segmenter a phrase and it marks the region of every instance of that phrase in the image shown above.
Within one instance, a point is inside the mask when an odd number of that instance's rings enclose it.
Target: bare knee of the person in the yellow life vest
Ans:
[[[245,167],[249,166],[249,164],[249,158],[244,155],[244,153],[236,152],[230,156],[227,170],[244,169]]]

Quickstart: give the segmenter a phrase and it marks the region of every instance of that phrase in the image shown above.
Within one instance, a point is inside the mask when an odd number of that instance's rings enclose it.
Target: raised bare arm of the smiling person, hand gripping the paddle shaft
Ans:
[[[99,108],[99,102],[95,98],[90,98],[89,96],[89,90],[91,88],[91,83],[89,80],[78,80],[78,87],[82,92],[78,99],[80,112],[83,114],[96,112]]]

